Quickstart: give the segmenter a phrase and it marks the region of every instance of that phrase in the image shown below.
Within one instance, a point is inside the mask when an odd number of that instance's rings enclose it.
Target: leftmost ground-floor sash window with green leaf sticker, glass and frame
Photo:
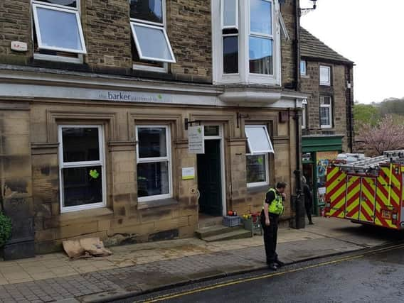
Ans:
[[[106,205],[101,126],[59,126],[61,212]]]

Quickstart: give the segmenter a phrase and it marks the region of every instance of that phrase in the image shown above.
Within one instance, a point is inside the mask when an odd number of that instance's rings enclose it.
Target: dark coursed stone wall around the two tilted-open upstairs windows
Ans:
[[[33,17],[29,2],[3,0],[0,3],[0,63],[60,67],[61,65],[50,65],[40,60],[33,62]],[[128,1],[80,2],[87,55],[83,56],[84,65],[63,65],[63,68],[137,75],[132,72],[132,33]],[[169,74],[174,79],[211,82],[210,7],[210,1],[166,1],[167,34],[176,57],[176,63],[169,67]],[[14,40],[28,43],[28,52],[11,51],[10,43]]]

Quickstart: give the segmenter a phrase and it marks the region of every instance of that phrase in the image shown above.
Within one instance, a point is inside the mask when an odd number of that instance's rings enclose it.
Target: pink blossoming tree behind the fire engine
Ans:
[[[366,145],[366,150],[375,150],[382,155],[385,150],[404,148],[404,125],[395,123],[393,116],[385,116],[376,126],[363,123],[358,129],[359,141]]]

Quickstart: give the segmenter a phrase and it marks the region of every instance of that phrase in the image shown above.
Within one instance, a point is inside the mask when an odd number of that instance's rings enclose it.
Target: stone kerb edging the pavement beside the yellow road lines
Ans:
[[[329,254],[325,254],[325,255],[317,255],[317,256],[309,257],[309,258],[302,258],[300,260],[291,260],[288,258],[285,258],[282,260],[285,261],[285,265],[293,265],[293,264],[304,263],[307,261],[317,260],[317,259],[321,259],[321,258],[332,258],[332,257],[336,257],[338,255],[354,253],[354,252],[357,252],[360,250],[363,250],[363,248],[346,250],[344,252],[329,253]],[[223,277],[232,277],[235,275],[243,275],[243,274],[247,274],[250,272],[255,272],[258,270],[265,270],[265,269],[267,269],[267,265],[256,265],[256,266],[248,266],[248,267],[240,265],[239,269],[234,267],[230,270],[213,270],[211,272],[201,272],[201,273],[196,272],[193,275],[187,275],[186,277],[188,277],[188,279],[181,280],[180,282],[169,282],[167,284],[159,285],[156,287],[147,287],[147,289],[145,289],[145,290],[141,289],[141,290],[128,291],[128,290],[123,290],[121,288],[118,290],[113,290],[113,291],[108,291],[108,292],[89,294],[87,296],[78,297],[77,299],[80,299],[80,302],[85,302],[85,303],[110,302],[110,301],[115,301],[115,300],[119,300],[119,299],[127,299],[129,297],[135,297],[135,296],[139,296],[142,294],[148,294],[151,292],[160,292],[160,291],[167,290],[167,289],[174,288],[174,287],[191,285],[196,282],[204,282],[204,281],[208,281],[208,280],[220,279]]]

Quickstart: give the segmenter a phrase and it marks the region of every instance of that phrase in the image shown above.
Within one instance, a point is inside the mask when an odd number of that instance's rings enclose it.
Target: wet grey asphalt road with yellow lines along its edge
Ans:
[[[125,302],[404,302],[404,246],[181,287]]]

